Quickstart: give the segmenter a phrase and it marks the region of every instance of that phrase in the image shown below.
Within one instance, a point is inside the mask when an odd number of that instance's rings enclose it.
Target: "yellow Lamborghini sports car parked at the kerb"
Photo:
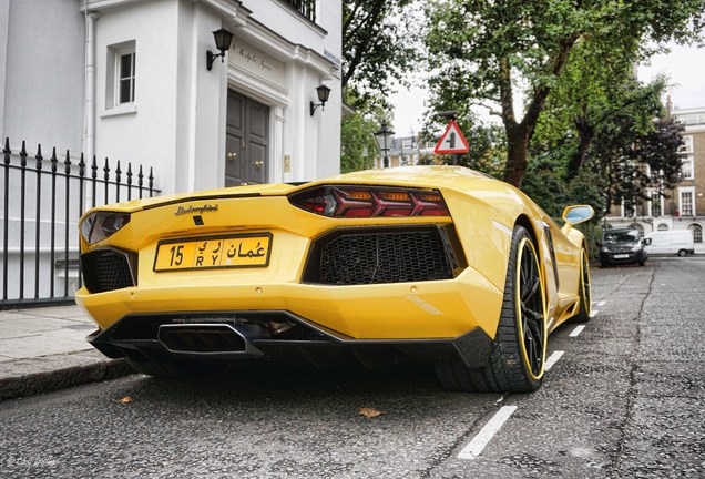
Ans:
[[[433,364],[441,384],[531,391],[549,333],[590,318],[565,208],[459,166],[131,201],[83,215],[76,303],[106,356],[176,376],[237,360]]]

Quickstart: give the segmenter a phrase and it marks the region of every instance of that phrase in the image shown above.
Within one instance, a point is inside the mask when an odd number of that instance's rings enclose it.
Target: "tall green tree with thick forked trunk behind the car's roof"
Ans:
[[[432,0],[427,6],[426,45],[429,64],[438,73],[429,82],[431,106],[452,98],[483,105],[499,116],[507,136],[503,180],[521,186],[530,142],[576,45],[590,44],[594,54],[584,55],[590,68],[609,65],[607,73],[619,71],[611,61],[634,64],[648,53],[643,42],[697,37],[704,4],[704,0]],[[525,98],[522,118],[514,110],[518,93]]]

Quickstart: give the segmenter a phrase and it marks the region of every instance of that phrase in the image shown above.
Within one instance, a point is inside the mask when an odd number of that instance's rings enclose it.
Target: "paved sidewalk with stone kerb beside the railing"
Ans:
[[[0,310],[0,401],[133,374],[85,340],[93,330],[75,305]]]

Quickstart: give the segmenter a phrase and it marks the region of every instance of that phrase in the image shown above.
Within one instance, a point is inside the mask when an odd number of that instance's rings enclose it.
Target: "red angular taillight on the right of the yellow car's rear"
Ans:
[[[289,196],[289,202],[329,217],[450,216],[435,190],[380,186],[320,186]]]

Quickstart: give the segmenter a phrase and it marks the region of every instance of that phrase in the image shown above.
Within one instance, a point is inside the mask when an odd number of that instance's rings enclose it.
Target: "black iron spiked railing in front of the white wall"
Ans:
[[[69,151],[50,157],[37,146],[34,156],[24,142],[19,152],[6,139],[0,176],[0,308],[70,300],[81,287],[78,222],[89,207],[123,200],[159,195],[150,167],[126,171],[120,161],[99,166],[95,157],[86,164],[83,154],[72,159]],[[76,161],[78,160],[78,161]],[[123,175],[124,174],[124,175]]]

